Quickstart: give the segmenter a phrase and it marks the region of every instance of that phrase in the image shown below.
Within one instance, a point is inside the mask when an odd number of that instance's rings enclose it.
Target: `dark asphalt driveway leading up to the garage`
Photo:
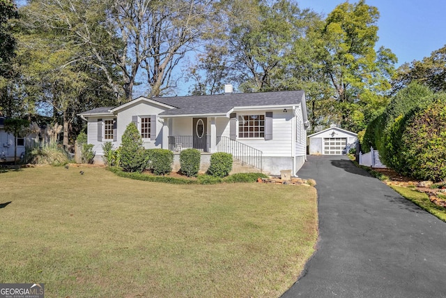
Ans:
[[[345,156],[309,156],[319,234],[307,269],[282,297],[446,297],[446,223]]]

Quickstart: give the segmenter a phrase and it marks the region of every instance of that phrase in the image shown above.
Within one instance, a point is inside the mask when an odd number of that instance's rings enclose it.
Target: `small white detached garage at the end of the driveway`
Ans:
[[[344,155],[356,146],[356,142],[356,133],[332,125],[309,135],[309,154]]]

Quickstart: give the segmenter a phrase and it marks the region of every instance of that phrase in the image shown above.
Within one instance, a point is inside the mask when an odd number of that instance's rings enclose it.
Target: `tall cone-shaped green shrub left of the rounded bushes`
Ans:
[[[125,172],[142,172],[147,165],[146,150],[142,146],[137,126],[130,122],[121,142],[121,167]]]

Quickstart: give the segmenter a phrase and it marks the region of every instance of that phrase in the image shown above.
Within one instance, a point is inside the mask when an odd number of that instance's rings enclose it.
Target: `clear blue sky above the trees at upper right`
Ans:
[[[328,15],[341,0],[297,0],[300,8]],[[349,1],[357,3],[357,1]],[[366,0],[376,6],[377,49],[384,46],[397,55],[397,66],[429,57],[446,44],[446,1],[444,0]]]

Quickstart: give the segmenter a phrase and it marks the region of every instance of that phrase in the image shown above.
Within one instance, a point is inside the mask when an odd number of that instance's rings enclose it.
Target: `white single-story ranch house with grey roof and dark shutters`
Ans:
[[[231,90],[231,89],[229,89]],[[146,149],[179,153],[199,149],[201,169],[210,154],[224,151],[234,160],[272,175],[295,175],[306,160],[307,107],[304,91],[277,91],[213,96],[139,97],[118,107],[98,107],[79,114],[88,122],[95,163],[102,162],[102,144],[121,144],[125,128],[137,125]]]

